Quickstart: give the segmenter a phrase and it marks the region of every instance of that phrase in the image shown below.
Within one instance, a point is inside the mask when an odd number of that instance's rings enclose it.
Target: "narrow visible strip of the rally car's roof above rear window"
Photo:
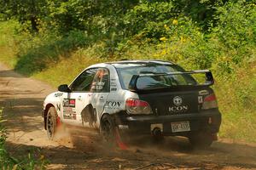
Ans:
[[[160,59],[147,59],[147,60],[120,60],[108,62],[106,64],[113,65],[114,67],[126,67],[131,65],[174,65],[174,63]]]

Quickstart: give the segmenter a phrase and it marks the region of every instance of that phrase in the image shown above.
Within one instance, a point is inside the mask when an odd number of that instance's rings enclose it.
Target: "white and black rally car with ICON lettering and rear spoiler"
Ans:
[[[201,73],[203,83],[195,79]],[[127,131],[184,136],[195,146],[210,146],[221,123],[213,82],[211,71],[185,71],[163,60],[90,65],[46,97],[44,127],[49,139],[65,123],[97,128],[107,141]]]

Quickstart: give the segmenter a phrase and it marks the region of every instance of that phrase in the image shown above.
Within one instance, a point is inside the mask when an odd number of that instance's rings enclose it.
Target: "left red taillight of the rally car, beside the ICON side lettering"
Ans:
[[[150,114],[152,113],[148,102],[140,99],[126,99],[126,111],[129,114]]]

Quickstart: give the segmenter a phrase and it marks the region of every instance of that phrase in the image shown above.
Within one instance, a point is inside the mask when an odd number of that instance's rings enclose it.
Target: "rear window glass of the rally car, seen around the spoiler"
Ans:
[[[135,65],[117,68],[119,80],[122,87],[128,89],[131,77],[140,74],[163,74],[168,72],[184,71],[178,65]],[[195,85],[196,81],[190,75],[168,75],[168,76],[149,76],[137,79],[137,88],[168,88],[177,85]]]

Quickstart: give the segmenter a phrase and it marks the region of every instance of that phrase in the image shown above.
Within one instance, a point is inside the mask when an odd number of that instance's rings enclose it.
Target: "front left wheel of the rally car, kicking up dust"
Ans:
[[[46,131],[50,140],[54,139],[57,125],[57,112],[55,107],[50,107],[46,116]]]

